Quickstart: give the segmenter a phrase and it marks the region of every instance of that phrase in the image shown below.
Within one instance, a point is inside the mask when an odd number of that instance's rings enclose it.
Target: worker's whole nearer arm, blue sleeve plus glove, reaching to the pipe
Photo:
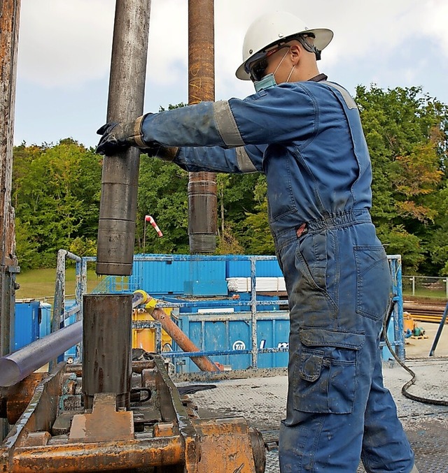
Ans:
[[[97,152],[108,154],[114,147],[217,147],[211,151],[216,161],[203,161],[204,154],[183,151],[189,166],[200,157],[199,166],[216,165],[228,170],[225,161],[237,162],[233,153],[223,154],[223,149],[232,149],[265,143],[290,143],[302,140],[306,143],[316,132],[316,104],[307,87],[283,84],[263,90],[246,99],[201,102],[183,108],[139,117],[130,124],[109,124],[99,130],[102,138]],[[255,151],[255,150],[254,150]],[[253,154],[256,154],[255,152]],[[177,159],[177,158],[176,158]],[[179,163],[186,164],[179,156]],[[260,170],[260,163],[253,162]],[[232,170],[228,170],[232,172]],[[235,172],[235,171],[234,171]]]

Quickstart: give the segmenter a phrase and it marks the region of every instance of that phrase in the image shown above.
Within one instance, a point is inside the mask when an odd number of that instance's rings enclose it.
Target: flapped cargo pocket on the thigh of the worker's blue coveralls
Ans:
[[[303,327],[295,368],[294,408],[316,414],[349,414],[356,391],[357,351],[363,333]]]

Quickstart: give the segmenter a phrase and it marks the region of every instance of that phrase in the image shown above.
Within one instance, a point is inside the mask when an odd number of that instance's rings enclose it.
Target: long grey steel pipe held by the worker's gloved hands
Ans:
[[[117,0],[107,122],[143,113],[150,0]],[[97,274],[132,274],[140,153],[130,148],[104,158],[99,206]]]

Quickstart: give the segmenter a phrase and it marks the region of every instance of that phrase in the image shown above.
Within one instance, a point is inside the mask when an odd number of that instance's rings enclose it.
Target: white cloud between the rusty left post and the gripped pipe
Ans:
[[[108,0],[22,1],[18,74],[46,87],[73,87],[109,70],[114,4]]]

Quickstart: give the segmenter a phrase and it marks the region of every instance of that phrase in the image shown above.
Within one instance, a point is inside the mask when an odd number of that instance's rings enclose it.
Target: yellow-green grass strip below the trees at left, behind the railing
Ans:
[[[66,297],[75,293],[75,268],[69,266],[66,268],[65,294]],[[45,268],[40,270],[28,270],[20,272],[16,277],[16,282],[20,284],[20,289],[15,292],[15,298],[18,299],[43,299],[55,296],[56,269]],[[87,292],[92,291],[97,284],[102,281],[102,277],[96,275],[94,266],[87,268]]]

